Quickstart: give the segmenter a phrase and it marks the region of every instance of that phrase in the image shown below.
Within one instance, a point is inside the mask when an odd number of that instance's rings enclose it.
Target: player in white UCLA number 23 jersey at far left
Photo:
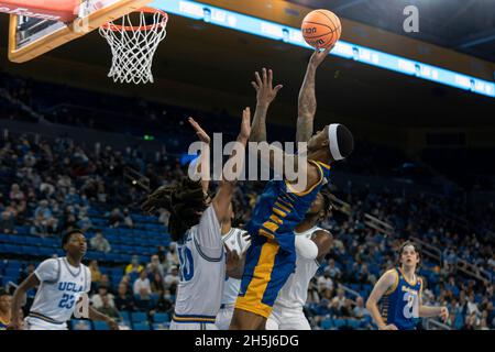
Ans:
[[[86,238],[80,230],[72,230],[64,234],[62,246],[66,256],[50,258],[38,267],[15,289],[12,299],[12,321],[9,329],[21,329],[19,316],[25,293],[38,286],[30,314],[24,319],[25,330],[67,330],[81,295],[86,295],[91,286],[91,273],[81,263],[86,254]],[[105,320],[112,329],[117,322],[92,307],[88,307],[91,320]]]

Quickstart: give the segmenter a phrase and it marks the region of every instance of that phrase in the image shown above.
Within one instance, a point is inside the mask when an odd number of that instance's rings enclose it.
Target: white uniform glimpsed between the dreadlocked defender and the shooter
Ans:
[[[242,255],[250,246],[250,241],[248,241],[248,238],[244,237],[245,233],[246,231],[244,230],[232,228],[222,237],[223,243],[229,248],[230,251],[235,251],[239,255]],[[220,311],[215,323],[219,330],[229,330],[235,300],[238,299],[240,289],[241,280],[226,275],[222,304],[220,306]]]

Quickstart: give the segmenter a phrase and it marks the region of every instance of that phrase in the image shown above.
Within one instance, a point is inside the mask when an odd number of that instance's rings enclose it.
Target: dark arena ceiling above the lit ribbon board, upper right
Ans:
[[[493,0],[288,0],[342,18],[495,62]],[[405,33],[404,9],[416,6],[419,33]]]

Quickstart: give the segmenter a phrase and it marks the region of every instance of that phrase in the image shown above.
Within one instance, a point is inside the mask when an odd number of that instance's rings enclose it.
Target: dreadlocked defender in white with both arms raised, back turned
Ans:
[[[250,119],[246,108],[238,136],[238,142],[244,147],[251,132]],[[189,122],[200,140],[208,144],[206,132],[193,119]],[[229,162],[241,166],[244,153],[235,153]],[[200,167],[206,163],[201,157]],[[238,172],[241,172],[239,166]],[[208,182],[201,175],[201,183],[184,177],[178,184],[160,187],[143,204],[143,210],[148,212],[158,208],[170,212],[168,229],[173,241],[177,242],[180,282],[170,330],[216,330],[215,320],[226,277],[221,224],[229,220],[235,172],[231,176],[232,180],[220,182],[212,200],[208,195]]]

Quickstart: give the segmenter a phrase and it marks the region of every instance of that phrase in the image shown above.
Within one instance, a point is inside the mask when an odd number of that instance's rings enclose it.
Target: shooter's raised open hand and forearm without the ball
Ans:
[[[256,90],[256,111],[253,119],[253,131],[251,132],[250,141],[263,142],[266,141],[266,113],[270,105],[275,99],[282,85],[273,87],[273,72],[272,69],[262,69],[262,76],[254,73],[255,80],[251,85]]]

